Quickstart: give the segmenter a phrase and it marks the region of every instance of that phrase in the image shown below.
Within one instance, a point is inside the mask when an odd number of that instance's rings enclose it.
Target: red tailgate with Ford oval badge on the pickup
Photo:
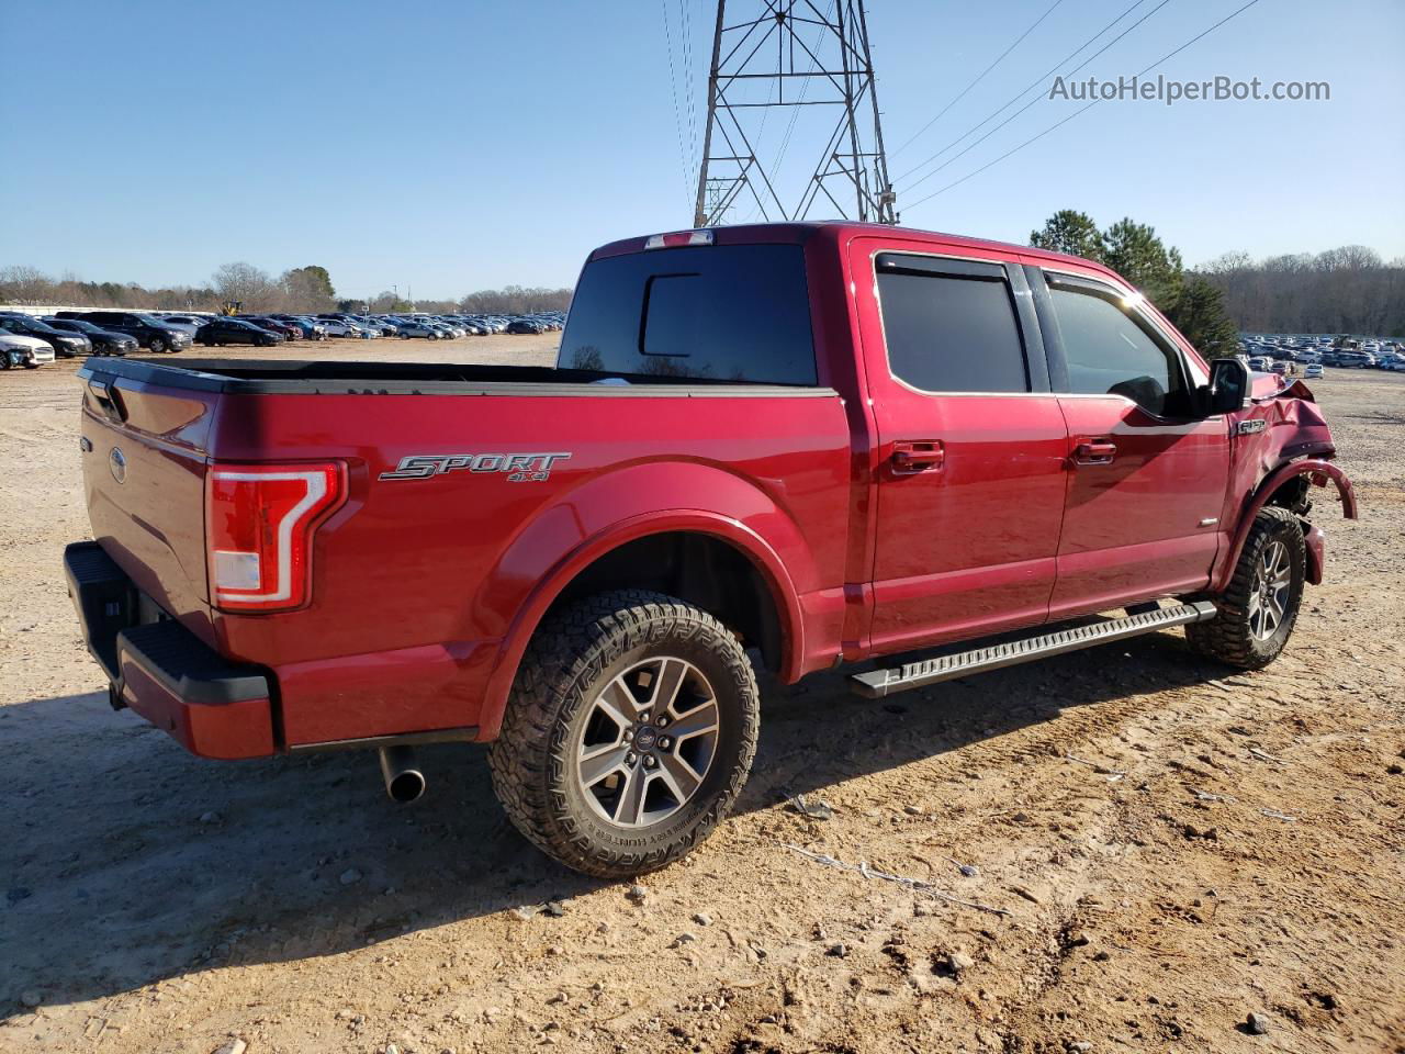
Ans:
[[[180,375],[170,372],[178,384]],[[219,392],[105,375],[91,361],[79,377],[93,537],[138,589],[214,644],[204,509],[207,440]]]

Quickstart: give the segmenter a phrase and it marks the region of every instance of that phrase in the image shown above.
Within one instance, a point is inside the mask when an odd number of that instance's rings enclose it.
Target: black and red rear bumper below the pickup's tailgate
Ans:
[[[201,757],[277,752],[273,689],[257,666],[230,663],[171,620],[140,621],[140,597],[97,542],[63,551],[83,642],[125,704]]]

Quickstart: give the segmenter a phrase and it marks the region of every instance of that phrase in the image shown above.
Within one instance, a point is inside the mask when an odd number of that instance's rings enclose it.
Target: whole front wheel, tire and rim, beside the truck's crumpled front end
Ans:
[[[1249,528],[1220,613],[1187,625],[1186,638],[1201,655],[1231,666],[1267,666],[1293,635],[1305,580],[1302,523],[1290,510],[1269,506]]]

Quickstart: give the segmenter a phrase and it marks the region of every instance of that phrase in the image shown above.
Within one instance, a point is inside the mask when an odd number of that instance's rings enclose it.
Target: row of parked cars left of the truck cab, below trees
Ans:
[[[563,312],[540,315],[194,315],[150,311],[60,311],[53,315],[0,312],[0,368],[37,368],[55,356],[125,356],[145,349],[160,354],[191,344],[268,347],[285,340],[329,337],[420,337],[451,340],[469,334],[559,330]]]

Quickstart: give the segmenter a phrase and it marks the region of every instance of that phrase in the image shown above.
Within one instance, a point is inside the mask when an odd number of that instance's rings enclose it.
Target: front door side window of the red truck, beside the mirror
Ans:
[[[1083,395],[1124,395],[1152,413],[1166,413],[1180,395],[1175,353],[1155,341],[1111,299],[1051,288],[1068,360],[1068,386]]]

